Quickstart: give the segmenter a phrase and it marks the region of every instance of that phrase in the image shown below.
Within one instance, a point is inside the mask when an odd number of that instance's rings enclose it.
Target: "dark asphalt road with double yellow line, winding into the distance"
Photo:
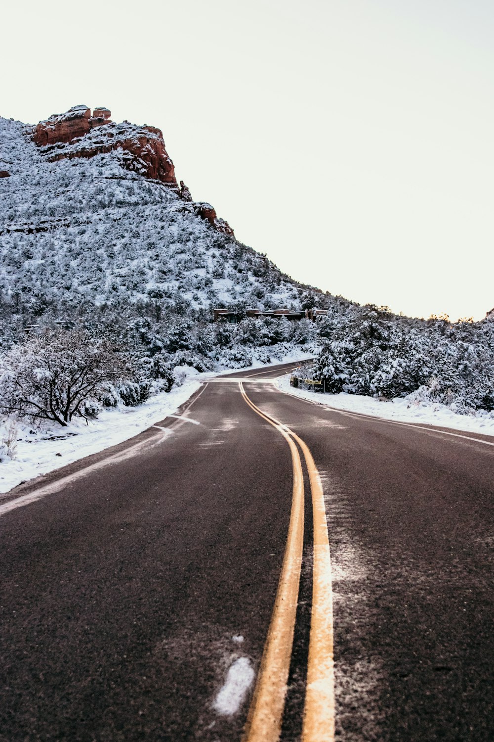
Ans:
[[[494,738],[494,441],[295,365],[0,500],[1,742]]]

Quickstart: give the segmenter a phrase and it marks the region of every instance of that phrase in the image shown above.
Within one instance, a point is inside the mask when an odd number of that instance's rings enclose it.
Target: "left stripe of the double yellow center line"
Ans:
[[[284,698],[287,692],[304,547],[304,477],[296,444],[281,425],[273,422],[252,404],[241,382],[239,387],[249,407],[284,436],[292,454],[293,498],[287,546],[243,737],[244,742],[276,742],[281,732]]]

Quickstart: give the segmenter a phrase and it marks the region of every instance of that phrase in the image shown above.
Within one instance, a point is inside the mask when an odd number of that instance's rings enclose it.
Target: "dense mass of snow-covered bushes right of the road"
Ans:
[[[494,327],[446,316],[428,321],[387,307],[350,307],[318,325],[321,352],[311,378],[327,392],[413,395],[456,412],[494,409]]]

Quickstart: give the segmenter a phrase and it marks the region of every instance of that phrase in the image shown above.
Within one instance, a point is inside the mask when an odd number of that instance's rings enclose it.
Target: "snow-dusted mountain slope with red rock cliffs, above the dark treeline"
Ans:
[[[178,185],[161,131],[76,106],[0,119],[0,300],[24,324],[98,307],[298,309],[300,283]],[[178,309],[177,309],[178,308]]]

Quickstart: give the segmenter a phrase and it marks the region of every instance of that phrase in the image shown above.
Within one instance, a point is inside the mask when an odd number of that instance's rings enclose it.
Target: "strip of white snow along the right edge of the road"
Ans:
[[[327,407],[348,410],[353,413],[364,413],[373,417],[410,422],[438,427],[450,427],[470,433],[483,433],[494,436],[494,417],[490,413],[472,412],[470,415],[458,415],[450,407],[438,402],[415,401],[396,397],[393,400],[380,400],[358,394],[321,394],[290,387],[290,374],[278,379],[278,387],[296,397],[316,401]]]

